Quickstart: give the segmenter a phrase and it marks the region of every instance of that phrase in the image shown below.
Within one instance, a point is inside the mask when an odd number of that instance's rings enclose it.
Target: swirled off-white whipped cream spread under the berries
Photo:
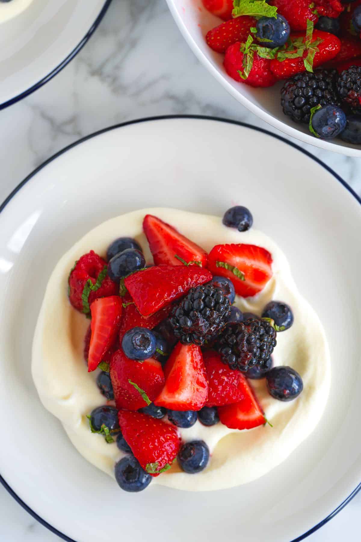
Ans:
[[[93,249],[105,256],[111,241],[134,237],[141,245],[147,264],[153,263],[142,231],[146,214],[172,224],[207,251],[215,244],[250,243],[264,247],[273,258],[273,277],[253,298],[236,297],[242,311],[261,314],[271,299],[292,307],[294,324],[277,334],[274,365],[290,365],[303,378],[304,390],[291,402],[280,402],[267,392],[266,381],[251,384],[273,425],[251,430],[232,430],[221,423],[205,427],[196,422],[180,429],[183,441],[202,439],[211,450],[211,459],[199,474],[186,474],[175,462],[170,470],[153,479],[160,484],[188,491],[225,489],[247,483],[266,474],[284,461],[308,437],[320,420],[330,389],[330,356],[323,327],[309,303],[293,282],[285,255],[265,234],[251,229],[244,233],[225,227],[220,217],[175,209],[143,209],[122,215],[91,230],[61,258],[52,272],[38,317],[32,347],[32,376],[45,408],[56,416],[71,442],[88,461],[114,478],[114,464],[124,456],[116,443],[91,434],[87,414],[107,403],[95,379],[99,371],[87,372],[83,358],[84,335],[89,326],[83,314],[71,307],[68,275],[74,261]],[[312,440],[310,439],[310,446]]]

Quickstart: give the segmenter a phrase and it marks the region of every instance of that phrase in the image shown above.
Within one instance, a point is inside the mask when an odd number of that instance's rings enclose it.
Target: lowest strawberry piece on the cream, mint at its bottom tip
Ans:
[[[127,410],[120,410],[118,417],[123,437],[143,469],[152,476],[168,470],[181,444],[174,425]]]

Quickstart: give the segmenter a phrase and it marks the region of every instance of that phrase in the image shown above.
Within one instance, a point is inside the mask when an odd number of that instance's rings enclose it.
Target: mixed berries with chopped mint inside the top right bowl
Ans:
[[[220,18],[206,42],[231,78],[280,86],[314,137],[361,144],[361,0],[202,0]]]

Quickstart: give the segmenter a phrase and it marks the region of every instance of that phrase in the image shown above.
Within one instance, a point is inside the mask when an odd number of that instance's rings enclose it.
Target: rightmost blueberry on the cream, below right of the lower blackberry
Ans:
[[[303,390],[302,378],[291,367],[273,367],[267,372],[266,380],[268,392],[279,401],[292,401]]]

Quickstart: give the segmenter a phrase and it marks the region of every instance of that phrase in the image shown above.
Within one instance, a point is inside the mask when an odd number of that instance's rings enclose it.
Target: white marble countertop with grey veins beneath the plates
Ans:
[[[84,135],[117,122],[163,114],[213,115],[280,133],[235,101],[199,64],[165,0],[113,0],[89,43],[60,74],[0,112],[1,201],[36,166]],[[361,160],[294,141],[361,195]],[[312,534],[310,542],[356,539],[360,509],[361,492]],[[59,539],[0,486],[0,540]]]

